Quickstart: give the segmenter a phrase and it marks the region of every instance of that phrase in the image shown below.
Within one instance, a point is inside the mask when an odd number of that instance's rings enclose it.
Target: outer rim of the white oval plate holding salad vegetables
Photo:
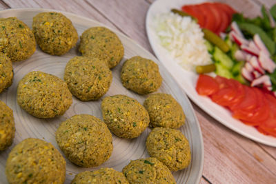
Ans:
[[[147,33],[147,36],[148,36],[148,41],[150,43],[150,46],[151,46],[153,52],[155,52],[155,56],[157,57],[157,59],[159,59],[159,61],[161,61],[162,63],[163,62],[165,63],[166,61],[164,61],[164,59],[162,59],[161,57],[159,57],[159,54],[157,52],[158,49],[155,47],[154,38],[150,37],[150,29],[151,28],[149,28],[149,26],[148,26],[148,25],[150,25],[150,16],[151,16],[152,7],[154,8],[155,6],[157,6],[157,4],[160,4],[161,1],[165,1],[165,0],[157,0],[157,1],[155,1],[154,3],[152,3],[152,5],[150,6],[150,8],[148,9],[148,12],[147,12],[147,15],[146,15],[146,33]],[[198,1],[200,1],[200,2],[206,2],[208,0],[197,0],[197,1],[193,1],[193,3],[198,3]],[[170,3],[174,3],[174,2],[178,2],[178,1],[177,0],[170,1]],[[250,3],[254,3],[254,2],[250,2]],[[187,3],[186,1],[183,1],[182,4],[184,5],[184,4],[191,4],[191,3]],[[172,74],[172,76],[173,76],[173,74]],[[175,81],[177,81],[177,79],[174,76],[173,76],[173,78],[175,79]],[[177,83],[179,83],[179,82],[177,81]],[[214,115],[210,108],[205,108],[204,104],[202,104],[202,103],[200,103],[200,101],[198,101],[197,98],[198,97],[201,98],[202,96],[199,96],[199,95],[193,96],[192,94],[190,94],[189,92],[187,92],[187,90],[185,90],[185,88],[183,88],[180,83],[179,83],[179,86],[181,87],[182,90],[184,90],[184,92],[186,92],[186,94],[189,97],[189,99],[191,99],[195,104],[197,104],[199,106],[199,108],[201,108],[201,110],[204,110],[204,112],[206,112],[209,116],[212,116],[214,119],[216,119],[222,125],[225,125],[230,130],[233,130],[234,132],[237,132],[238,134],[240,134],[242,136],[245,136],[248,139],[251,139],[253,141],[257,141],[257,142],[262,143],[264,145],[269,145],[269,146],[272,146],[272,147],[276,147],[276,139],[275,139],[275,142],[273,142],[273,141],[272,142],[268,142],[266,140],[263,140],[262,138],[255,137],[254,135],[252,135],[252,134],[250,134],[248,132],[244,132],[243,130],[240,130],[239,128],[235,127],[234,125],[232,125],[230,123],[226,123],[225,122],[226,120],[222,119],[220,116]],[[224,109],[224,108],[221,107],[221,109]],[[234,119],[234,120],[237,121],[236,119]],[[239,122],[239,123],[242,123],[242,122]],[[261,134],[259,132],[257,132],[257,133],[260,136],[266,136],[266,135]],[[272,139],[274,139],[274,138],[272,137]]]

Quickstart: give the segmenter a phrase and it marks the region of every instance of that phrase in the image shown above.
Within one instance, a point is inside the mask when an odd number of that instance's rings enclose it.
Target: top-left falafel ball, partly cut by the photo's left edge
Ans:
[[[28,25],[17,17],[0,19],[0,52],[15,62],[31,57],[35,48],[34,34]]]

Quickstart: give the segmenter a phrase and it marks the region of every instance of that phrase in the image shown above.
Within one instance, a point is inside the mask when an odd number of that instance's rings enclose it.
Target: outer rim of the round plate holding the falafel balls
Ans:
[[[143,52],[145,52],[146,54],[149,54],[152,58],[155,58],[155,60],[159,61],[159,67],[161,66],[161,68],[164,69],[164,72],[166,72],[166,74],[169,76],[168,79],[175,81],[175,85],[177,85],[177,91],[181,92],[181,98],[184,98],[184,100],[188,103],[188,106],[190,108],[190,112],[192,112],[193,116],[191,117],[195,122],[195,126],[197,127],[197,130],[199,132],[199,135],[194,135],[197,136],[197,139],[200,143],[199,145],[199,149],[201,150],[201,154],[200,156],[198,156],[197,158],[199,159],[199,165],[195,165],[197,166],[197,180],[193,181],[193,183],[199,183],[201,176],[202,176],[202,172],[203,172],[203,167],[204,167],[204,141],[203,141],[203,136],[202,136],[202,132],[201,132],[201,127],[199,124],[199,121],[197,119],[197,116],[195,114],[195,110],[193,108],[193,105],[190,102],[190,99],[188,99],[188,96],[186,95],[186,92],[181,88],[181,86],[179,85],[179,83],[177,83],[177,81],[174,79],[174,77],[172,76],[172,74],[170,74],[170,72],[165,68],[164,64],[157,59],[157,57],[155,57],[154,54],[150,53],[148,50],[146,50],[144,47],[142,47],[139,43],[137,43],[137,41],[131,39],[130,37],[128,37],[126,34],[124,34],[123,32],[120,32],[119,30],[115,30],[114,28],[111,28],[110,26],[101,23],[99,21],[96,21],[95,19],[92,18],[88,18],[88,17],[84,17],[82,15],[78,15],[78,14],[74,14],[72,12],[66,12],[63,10],[55,10],[55,9],[49,9],[49,8],[10,8],[10,9],[6,9],[6,10],[0,10],[1,13],[6,13],[6,12],[26,12],[26,11],[39,11],[39,12],[50,12],[50,11],[55,11],[55,12],[61,12],[62,14],[66,15],[66,17],[75,17],[78,19],[83,19],[84,21],[90,21],[90,22],[94,22],[97,23],[103,27],[106,27],[110,30],[112,30],[112,32],[115,32],[116,34],[119,34],[120,37],[124,37],[124,39],[130,41],[131,44],[136,45],[137,47],[139,47],[139,49],[143,50]],[[19,18],[20,19],[20,18]],[[190,129],[191,130],[191,129]],[[195,153],[194,153],[195,154]],[[196,153],[196,155],[198,155],[198,153]]]

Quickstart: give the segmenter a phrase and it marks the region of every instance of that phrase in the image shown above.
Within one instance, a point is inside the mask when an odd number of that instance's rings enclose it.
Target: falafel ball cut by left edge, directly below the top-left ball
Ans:
[[[6,54],[0,52],[0,93],[12,85],[12,79],[12,61]]]

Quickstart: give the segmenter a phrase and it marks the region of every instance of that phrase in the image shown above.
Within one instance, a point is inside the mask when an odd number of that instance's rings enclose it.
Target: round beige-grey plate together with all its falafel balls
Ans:
[[[0,11],[3,183],[199,183],[186,94],[117,30],[46,9]]]

